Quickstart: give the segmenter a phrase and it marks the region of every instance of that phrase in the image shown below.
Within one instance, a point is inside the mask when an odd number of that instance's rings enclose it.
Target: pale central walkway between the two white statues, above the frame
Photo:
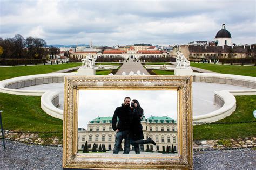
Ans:
[[[146,75],[150,75],[149,72],[142,66],[140,62],[124,62],[124,64],[121,66],[121,68],[117,71],[115,75],[122,75],[123,72],[125,72],[127,75],[132,71],[136,74],[137,71],[140,71],[140,73],[144,73]]]

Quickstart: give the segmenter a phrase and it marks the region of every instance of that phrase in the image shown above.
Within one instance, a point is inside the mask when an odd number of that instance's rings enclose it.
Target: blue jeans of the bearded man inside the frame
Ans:
[[[114,151],[113,154],[118,154],[119,148],[121,146],[122,140],[124,139],[124,154],[129,154],[130,152],[130,139],[129,139],[129,131],[119,131],[116,134],[116,141],[114,143]]]

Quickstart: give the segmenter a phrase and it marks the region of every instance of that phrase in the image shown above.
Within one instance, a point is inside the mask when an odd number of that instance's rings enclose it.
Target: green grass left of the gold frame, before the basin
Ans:
[[[41,96],[0,93],[3,128],[17,131],[62,131],[63,121],[41,109]]]

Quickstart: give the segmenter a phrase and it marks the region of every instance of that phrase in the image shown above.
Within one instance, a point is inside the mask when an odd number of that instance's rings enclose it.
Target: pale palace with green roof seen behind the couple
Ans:
[[[166,150],[166,146],[169,146],[170,149],[172,145],[174,150],[177,151],[177,122],[174,119],[167,116],[151,116],[147,119],[143,117],[142,126],[144,139],[151,137],[156,142],[156,146],[142,144],[140,145],[141,151],[149,148],[153,152],[161,152],[163,147]],[[78,150],[82,150],[87,141],[89,150],[92,149],[95,143],[97,148],[101,144],[105,145],[106,150],[113,151],[115,138],[116,132],[112,129],[112,117],[97,117],[89,121],[87,130],[78,128]],[[122,148],[124,148],[124,140],[122,141]],[[130,145],[130,149],[133,149],[132,145]]]

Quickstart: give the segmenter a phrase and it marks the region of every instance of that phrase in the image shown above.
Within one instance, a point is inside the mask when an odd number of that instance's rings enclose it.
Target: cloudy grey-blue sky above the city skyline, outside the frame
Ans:
[[[223,23],[236,44],[255,43],[255,0],[0,0],[0,37],[47,44],[153,45],[214,40]]]

